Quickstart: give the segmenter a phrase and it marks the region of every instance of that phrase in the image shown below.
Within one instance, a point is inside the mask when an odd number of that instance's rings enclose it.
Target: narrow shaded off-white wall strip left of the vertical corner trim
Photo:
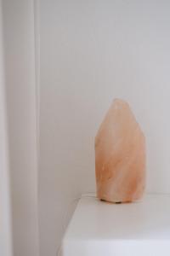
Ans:
[[[37,256],[37,117],[33,0],[3,0],[3,32],[14,256]]]

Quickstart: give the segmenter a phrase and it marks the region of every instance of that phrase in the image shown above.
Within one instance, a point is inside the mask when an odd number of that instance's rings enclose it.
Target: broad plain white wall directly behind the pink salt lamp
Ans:
[[[41,255],[73,198],[95,190],[94,136],[115,97],[147,139],[147,191],[170,192],[170,2],[40,1]],[[68,214],[70,215],[70,214]]]

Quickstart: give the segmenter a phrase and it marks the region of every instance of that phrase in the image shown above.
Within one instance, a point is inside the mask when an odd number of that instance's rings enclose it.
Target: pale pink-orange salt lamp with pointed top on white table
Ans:
[[[144,134],[127,102],[116,99],[95,138],[97,196],[111,202],[141,198],[145,184]]]

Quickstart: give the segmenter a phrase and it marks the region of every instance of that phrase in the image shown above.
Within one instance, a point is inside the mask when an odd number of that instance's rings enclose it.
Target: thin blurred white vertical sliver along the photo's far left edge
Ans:
[[[5,100],[3,19],[0,0],[0,255],[12,256],[10,181],[8,170],[8,131]]]

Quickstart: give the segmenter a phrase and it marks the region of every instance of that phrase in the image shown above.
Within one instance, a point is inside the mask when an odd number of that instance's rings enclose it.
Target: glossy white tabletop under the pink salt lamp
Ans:
[[[62,256],[170,254],[170,195],[111,204],[82,197],[62,242]]]

